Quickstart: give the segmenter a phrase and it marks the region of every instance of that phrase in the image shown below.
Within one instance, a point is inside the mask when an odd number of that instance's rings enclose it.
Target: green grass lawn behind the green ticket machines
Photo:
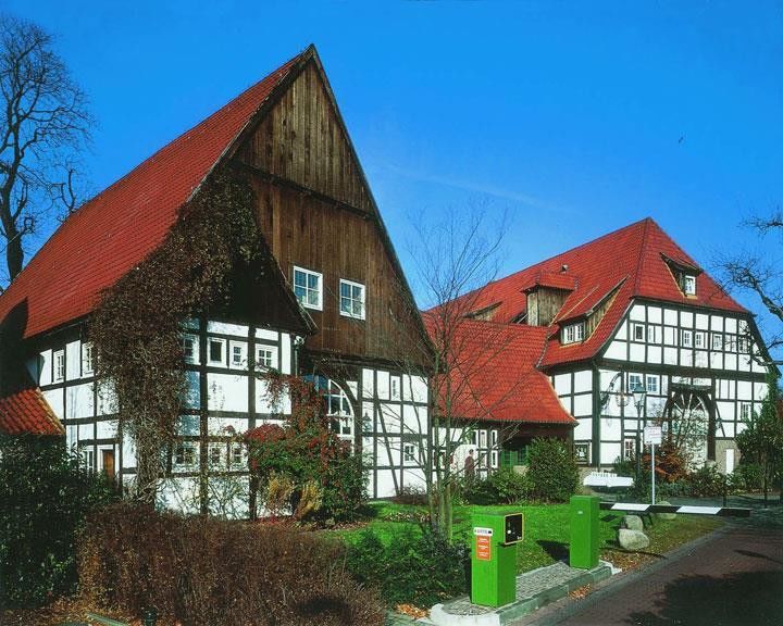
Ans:
[[[368,526],[382,538],[406,529],[421,531],[417,519],[425,519],[424,506],[373,502],[369,509]],[[478,505],[457,506],[455,509],[455,537],[469,541],[471,538],[470,515],[474,511],[486,509]],[[524,514],[524,541],[518,544],[517,569],[526,572],[549,565],[568,556],[569,549],[569,505],[531,504],[492,506],[493,510],[509,513],[521,511]],[[601,511],[600,540],[601,558],[627,568],[639,562],[655,560],[678,546],[692,541],[701,535],[711,533],[722,525],[718,517],[680,515],[676,519],[664,522],[656,519],[645,529],[650,546],[642,555],[631,555],[617,543],[617,529],[621,514]],[[346,541],[353,540],[362,529],[335,531]]]

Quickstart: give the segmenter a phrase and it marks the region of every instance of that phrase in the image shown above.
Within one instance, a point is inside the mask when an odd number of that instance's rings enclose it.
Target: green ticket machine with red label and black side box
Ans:
[[[517,543],[522,513],[483,511],[472,516],[471,602],[502,606],[517,600]]]

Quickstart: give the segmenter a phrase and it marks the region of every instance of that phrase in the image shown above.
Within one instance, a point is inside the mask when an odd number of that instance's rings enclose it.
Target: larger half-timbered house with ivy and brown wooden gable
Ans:
[[[289,410],[272,404],[261,368],[322,388],[335,428],[368,459],[372,497],[421,485],[426,335],[313,47],[64,221],[0,296],[3,371],[24,377],[85,463],[132,485],[135,453],[111,381],[95,376],[90,314],[219,166],[251,186],[271,262],[235,281],[235,308],[182,322],[187,392],[159,497],[206,510],[199,476],[247,480],[233,435]],[[0,411],[13,413],[18,389],[2,391]]]

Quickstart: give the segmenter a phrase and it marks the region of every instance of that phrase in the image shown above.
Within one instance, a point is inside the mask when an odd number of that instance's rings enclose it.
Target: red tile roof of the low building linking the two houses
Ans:
[[[437,321],[426,314],[424,321],[437,346]],[[452,415],[574,426],[549,378],[535,367],[546,336],[543,327],[460,321],[447,350],[452,354]],[[436,386],[443,406],[445,385]]]

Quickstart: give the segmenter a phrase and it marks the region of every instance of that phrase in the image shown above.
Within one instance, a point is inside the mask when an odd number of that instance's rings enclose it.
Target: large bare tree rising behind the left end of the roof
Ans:
[[[94,122],[51,35],[7,14],[0,15],[0,233],[13,280],[36,220],[58,204],[77,208],[77,154]]]

